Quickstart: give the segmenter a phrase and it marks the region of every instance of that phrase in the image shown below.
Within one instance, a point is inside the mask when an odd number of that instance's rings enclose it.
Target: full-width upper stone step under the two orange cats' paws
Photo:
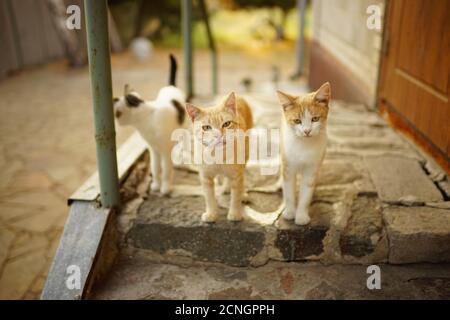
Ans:
[[[355,174],[348,169],[340,176],[342,181],[325,169],[320,180],[327,183],[319,182],[314,194],[312,221],[297,226],[281,217],[281,192],[271,190],[276,179],[261,177],[256,170],[247,172],[250,188],[244,221],[226,220],[229,195],[225,194],[218,195],[220,218],[212,224],[200,220],[204,199],[197,174],[177,170],[183,184],[170,197],[150,194],[143,201],[126,233],[127,245],[158,259],[187,257],[230,266],[260,266],[269,260],[450,261],[448,209],[432,207],[432,203],[409,207],[383,202],[376,191],[358,189],[356,182],[365,174],[357,169]]]

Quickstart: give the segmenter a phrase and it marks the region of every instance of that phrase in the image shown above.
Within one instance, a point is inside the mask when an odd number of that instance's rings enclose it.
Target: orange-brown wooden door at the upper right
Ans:
[[[450,0],[390,0],[386,18],[379,106],[448,165]]]

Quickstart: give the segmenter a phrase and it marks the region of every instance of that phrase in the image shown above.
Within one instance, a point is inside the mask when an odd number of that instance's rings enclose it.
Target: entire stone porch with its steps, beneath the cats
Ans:
[[[248,100],[257,126],[279,125],[273,97]],[[195,172],[178,169],[170,197],[143,197],[143,181],[141,196],[119,215],[121,258],[94,298],[450,298],[447,177],[375,112],[340,101],[330,106],[308,226],[280,217],[278,177],[259,169],[248,166],[239,223],[225,218],[229,195],[218,195],[217,223],[201,222]],[[367,289],[368,264],[381,267],[383,290]]]

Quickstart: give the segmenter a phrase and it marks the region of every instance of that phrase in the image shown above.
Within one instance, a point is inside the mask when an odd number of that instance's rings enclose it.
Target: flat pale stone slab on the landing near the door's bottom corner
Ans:
[[[380,199],[399,203],[402,199],[417,202],[438,202],[443,197],[420,164],[396,156],[368,156],[365,163]]]

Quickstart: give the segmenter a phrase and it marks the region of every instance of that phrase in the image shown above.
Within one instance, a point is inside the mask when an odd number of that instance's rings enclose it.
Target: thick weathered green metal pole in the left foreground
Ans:
[[[120,204],[120,195],[112,104],[108,8],[106,0],[85,0],[84,4],[100,198],[102,206],[115,207]]]

